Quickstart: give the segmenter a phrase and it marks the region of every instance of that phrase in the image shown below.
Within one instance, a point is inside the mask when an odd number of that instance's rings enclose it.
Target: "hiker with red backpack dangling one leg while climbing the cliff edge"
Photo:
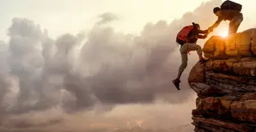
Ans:
[[[207,38],[208,33],[208,30],[200,30],[200,26],[197,23],[192,22],[192,25],[183,27],[177,34],[176,42],[181,45],[181,65],[178,76],[173,82],[178,90],[180,90],[180,76],[187,66],[187,53],[189,53],[189,51],[197,51],[199,63],[203,64],[207,61],[207,59],[202,56],[202,48],[200,45],[197,45],[197,41],[198,39]]]

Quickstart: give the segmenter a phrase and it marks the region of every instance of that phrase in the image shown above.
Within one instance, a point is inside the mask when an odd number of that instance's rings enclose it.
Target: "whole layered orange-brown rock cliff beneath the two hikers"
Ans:
[[[254,33],[255,32],[255,33]],[[188,77],[198,93],[192,110],[196,132],[256,132],[256,29],[228,38],[212,36]]]

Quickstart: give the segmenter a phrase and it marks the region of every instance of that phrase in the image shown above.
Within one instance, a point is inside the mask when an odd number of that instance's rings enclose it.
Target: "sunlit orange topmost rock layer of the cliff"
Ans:
[[[235,33],[226,39],[212,36],[206,41],[204,56],[212,58],[251,57],[256,54],[256,28]]]

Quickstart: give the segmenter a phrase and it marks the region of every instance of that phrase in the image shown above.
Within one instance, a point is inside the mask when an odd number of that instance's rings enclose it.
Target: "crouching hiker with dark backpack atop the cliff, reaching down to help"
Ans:
[[[212,32],[222,21],[229,21],[229,35],[236,33],[238,27],[241,25],[241,21],[243,21],[241,9],[242,5],[240,3],[226,0],[222,3],[220,8],[216,7],[213,9],[213,13],[218,19],[208,30]]]

